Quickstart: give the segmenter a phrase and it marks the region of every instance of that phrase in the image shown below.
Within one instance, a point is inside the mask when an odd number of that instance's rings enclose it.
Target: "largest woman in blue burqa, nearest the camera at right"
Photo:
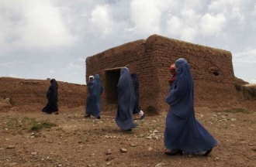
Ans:
[[[208,155],[217,141],[195,119],[194,83],[187,60],[180,58],[175,62],[176,80],[171,85],[165,102],[170,108],[166,117],[164,146],[167,155],[182,155],[183,152]]]

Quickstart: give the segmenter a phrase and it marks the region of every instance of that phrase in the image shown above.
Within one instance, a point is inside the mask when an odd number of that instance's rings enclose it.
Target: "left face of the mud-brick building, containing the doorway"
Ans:
[[[142,44],[141,44],[142,43]],[[119,70],[106,71],[106,69],[127,67],[130,73],[137,73],[140,82],[140,106],[148,112],[156,111],[157,89],[157,67],[155,66],[154,52],[150,49],[145,49],[145,40],[137,40],[133,43],[126,43],[122,46],[117,46],[108,49],[95,56],[89,56],[86,59],[86,81],[88,76],[98,73],[102,80],[104,88],[102,94],[102,111],[116,110],[117,108],[117,90]],[[112,73],[112,75],[109,75]],[[115,75],[115,76],[114,76]],[[115,99],[116,96],[116,99]]]

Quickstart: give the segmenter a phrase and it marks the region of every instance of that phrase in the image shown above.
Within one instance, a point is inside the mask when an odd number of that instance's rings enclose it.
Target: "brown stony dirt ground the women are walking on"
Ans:
[[[164,155],[164,116],[135,116],[137,128],[126,132],[112,112],[97,120],[83,111],[0,112],[0,166],[256,166],[256,112],[196,107],[217,147],[209,156],[170,156]]]

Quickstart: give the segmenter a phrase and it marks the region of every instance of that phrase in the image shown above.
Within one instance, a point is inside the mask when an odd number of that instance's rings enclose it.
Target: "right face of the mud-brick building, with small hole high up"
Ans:
[[[192,43],[168,39],[162,36],[150,36],[151,43],[157,50],[157,78],[159,85],[159,110],[167,111],[168,105],[163,103],[169,90],[168,80],[171,74],[169,67],[178,58],[185,58],[192,70],[195,84],[195,106],[227,107],[238,103],[235,91],[232,55],[222,49],[213,49]]]

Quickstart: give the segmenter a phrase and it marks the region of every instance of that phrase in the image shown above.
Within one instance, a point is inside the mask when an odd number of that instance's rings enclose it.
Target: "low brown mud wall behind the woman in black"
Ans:
[[[57,83],[59,107],[85,106],[85,85],[66,83],[58,80]],[[8,98],[12,106],[29,106],[41,110],[47,104],[46,94],[50,87],[50,80],[0,77],[0,87],[0,98]]]

